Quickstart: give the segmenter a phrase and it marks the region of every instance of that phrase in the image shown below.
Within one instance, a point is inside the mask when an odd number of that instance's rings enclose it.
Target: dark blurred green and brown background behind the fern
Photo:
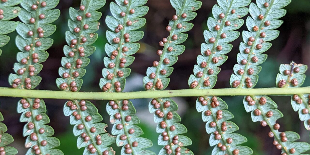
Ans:
[[[106,15],[111,15],[109,11],[109,3],[99,11],[102,12],[100,19],[99,38],[95,43],[97,47],[96,52],[91,55],[91,63],[86,67],[87,73],[82,78],[84,80],[81,91],[101,91],[99,88],[99,79],[102,78],[101,71],[104,68],[103,58],[106,56],[104,51],[104,44],[107,43],[105,38],[105,31],[108,29],[104,23]],[[253,1],[255,2],[255,1]],[[200,54],[200,45],[204,42],[203,31],[207,29],[206,21],[208,17],[212,16],[211,9],[217,2],[216,0],[203,0],[202,7],[197,11],[198,15],[195,20],[191,21],[194,24],[188,34],[188,39],[183,44],[186,50],[179,56],[177,63],[173,66],[174,72],[170,76],[171,81],[168,89],[187,89],[188,78],[193,74],[193,66],[196,64],[197,55]],[[53,24],[57,25],[56,32],[51,36],[54,39],[54,44],[48,50],[49,58],[43,64],[41,84],[37,89],[42,90],[58,90],[55,80],[59,77],[58,68],[61,66],[60,60],[63,54],[63,47],[65,44],[65,31],[68,30],[67,21],[69,18],[69,7],[79,7],[79,0],[60,0],[56,7],[60,9],[61,15]],[[156,51],[161,49],[158,42],[168,35],[165,28],[168,20],[175,15],[175,10],[170,5],[169,0],[149,0],[146,4],[149,7],[148,14],[144,17],[147,19],[144,31],[144,38],[140,41],[141,48],[135,54],[135,61],[130,66],[131,75],[127,78],[125,91],[141,91],[143,87],[143,76],[145,76],[146,69],[152,65],[154,60],[159,60]],[[281,19],[284,24],[278,29],[281,31],[280,36],[271,41],[273,46],[265,52],[268,54],[268,59],[261,66],[262,71],[259,73],[259,82],[256,88],[260,87],[275,87],[275,79],[279,73],[279,65],[282,63],[290,63],[294,60],[296,63],[310,65],[310,1],[309,0],[292,0],[290,5],[285,9],[286,15]],[[248,14],[249,15],[249,14]],[[244,18],[245,19],[245,18]],[[18,19],[15,19],[18,20]],[[237,31],[242,32],[246,30],[243,25]],[[8,83],[8,76],[13,73],[13,64],[16,62],[16,53],[19,52],[15,46],[16,32],[9,34],[11,41],[2,48],[3,53],[0,57],[0,86],[10,87]],[[242,41],[241,35],[231,44],[233,49],[228,53],[228,60],[221,66],[222,71],[218,75],[218,82],[215,88],[228,88],[230,75],[233,73],[233,65],[236,64],[237,53],[239,53],[239,43]],[[310,86],[310,71],[306,72],[306,78],[303,86]],[[290,97],[271,98],[278,104],[278,109],[284,114],[284,117],[278,120],[281,124],[280,131],[295,131],[300,134],[300,141],[309,141],[309,131],[306,131],[303,122],[299,121],[298,113],[291,108]],[[191,149],[195,155],[210,155],[213,147],[209,146],[209,135],[205,131],[205,122],[201,120],[201,113],[197,113],[195,108],[196,97],[175,98],[179,104],[178,113],[182,117],[182,124],[184,124],[188,133],[185,134],[190,137],[193,144],[187,148]],[[250,113],[246,113],[242,104],[242,97],[222,97],[229,106],[229,111],[235,115],[231,121],[239,126],[237,133],[246,136],[248,141],[244,144],[253,149],[255,155],[276,155],[281,154],[272,144],[273,138],[267,136],[270,129],[268,127],[261,127],[259,122],[252,122]],[[8,127],[8,133],[13,135],[15,142],[11,144],[19,150],[19,154],[25,154],[24,148],[25,137],[22,135],[24,122],[20,123],[20,114],[16,112],[17,102],[19,98],[5,98],[0,97],[1,112],[4,115],[4,123]],[[47,114],[51,119],[49,123],[55,129],[55,137],[60,139],[61,149],[64,154],[82,154],[83,149],[76,148],[77,137],[72,133],[73,126],[69,124],[69,117],[63,114],[63,106],[66,100],[44,99],[47,106]],[[153,147],[149,148],[158,153],[162,146],[157,145],[156,133],[157,123],[153,122],[153,114],[148,112],[148,103],[150,99],[136,99],[132,100],[137,110],[137,115],[141,119],[139,124],[143,130],[143,137],[147,137],[153,141]],[[105,111],[105,106],[108,101],[91,101],[94,103],[99,113],[104,117],[104,122],[109,124],[109,116]],[[109,124],[110,125],[110,124]],[[110,125],[108,131],[111,130]],[[120,147],[113,146],[114,150],[119,154]]]

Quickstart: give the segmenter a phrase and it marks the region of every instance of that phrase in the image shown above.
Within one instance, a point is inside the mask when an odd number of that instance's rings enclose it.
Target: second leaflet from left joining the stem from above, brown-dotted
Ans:
[[[105,3],[105,0],[82,0],[81,5],[85,7],[85,10],[75,10],[70,7],[69,31],[66,31],[68,45],[64,46],[66,57],[61,59],[63,67],[60,67],[58,71],[61,78],[56,80],[59,89],[65,91],[79,91],[81,89],[83,83],[81,78],[86,73],[84,68],[90,63],[90,59],[87,57],[96,50],[96,47],[91,46],[91,44],[98,38],[98,34],[95,32],[99,29],[98,20],[102,15],[96,10],[103,7]],[[76,85],[70,85],[74,82]]]

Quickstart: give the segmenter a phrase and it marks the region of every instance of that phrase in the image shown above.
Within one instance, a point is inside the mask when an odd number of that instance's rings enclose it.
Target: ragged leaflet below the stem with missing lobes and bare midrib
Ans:
[[[248,97],[251,98],[250,102],[246,100]],[[253,101],[254,104],[252,105],[251,102],[253,103]],[[310,144],[305,142],[294,142],[300,137],[293,131],[284,131],[287,141],[283,141],[283,137],[281,136],[282,132],[279,132],[278,129],[274,127],[277,119],[282,118],[283,114],[277,110],[277,104],[271,98],[268,96],[247,96],[244,97],[243,104],[246,112],[251,112],[253,122],[261,122],[262,124],[262,121],[265,121],[266,125],[270,127],[270,132],[273,133],[275,141],[282,147],[282,153],[300,154],[310,150]],[[257,111],[260,113],[258,114]],[[270,115],[271,112],[272,115]],[[290,150],[293,148],[296,152],[290,153]]]

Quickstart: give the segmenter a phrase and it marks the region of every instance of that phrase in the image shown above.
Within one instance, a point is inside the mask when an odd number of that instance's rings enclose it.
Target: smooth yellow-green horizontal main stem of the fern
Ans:
[[[309,94],[310,87],[302,88],[256,88],[256,89],[181,89],[164,91],[133,91],[133,92],[71,92],[71,91],[47,91],[26,90],[0,87],[0,96],[47,98],[68,100],[120,100],[140,98],[184,97],[184,96],[246,96],[246,95],[274,95],[290,96],[294,94]]]

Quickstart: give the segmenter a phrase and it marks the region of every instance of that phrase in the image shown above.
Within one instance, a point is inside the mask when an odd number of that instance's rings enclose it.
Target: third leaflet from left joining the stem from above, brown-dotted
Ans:
[[[139,43],[134,43],[143,38],[144,32],[137,31],[144,26],[146,20],[140,18],[148,12],[148,7],[143,6],[147,0],[123,1],[117,0],[110,3],[110,10],[113,16],[107,16],[105,22],[109,29],[106,37],[109,43],[105,44],[105,52],[108,57],[104,57],[103,78],[100,79],[99,86],[103,91],[120,92],[124,90],[126,77],[131,70],[127,68],[133,63],[135,54],[139,48]],[[131,10],[134,12],[131,12]],[[124,16],[121,15],[123,13]],[[125,38],[129,37],[129,38]],[[119,39],[119,42],[113,40]]]

